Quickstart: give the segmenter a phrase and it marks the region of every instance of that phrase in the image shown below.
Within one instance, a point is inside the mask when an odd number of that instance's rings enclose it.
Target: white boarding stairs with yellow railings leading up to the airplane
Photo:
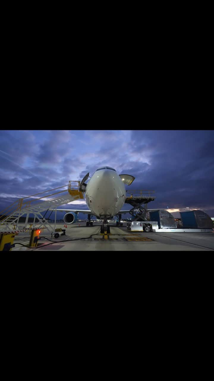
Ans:
[[[50,194],[50,192],[53,192],[55,190],[57,190],[57,192]],[[40,197],[41,195],[42,197]],[[32,199],[35,196],[39,196],[39,197]],[[44,218],[42,213],[44,211],[46,211],[47,213],[49,209],[54,210],[54,208],[58,208],[61,205],[65,205],[69,202],[72,202],[78,199],[83,199],[83,198],[84,198],[83,192],[80,191],[80,181],[72,181],[72,180],[70,180],[69,184],[67,185],[57,187],[49,191],[40,192],[32,196],[23,197],[22,199],[15,201],[9,207],[5,208],[2,212],[0,212],[0,215],[2,215],[3,213],[6,213],[6,214],[9,213],[7,216],[3,215],[0,218],[0,232],[14,230],[14,226],[18,227],[19,219],[20,217],[24,215],[26,215],[25,226],[24,226],[24,228],[26,229],[29,215],[33,214],[34,223],[32,228],[35,225],[39,224],[38,227],[43,225],[43,227],[46,227],[50,231],[50,233],[52,233],[53,226],[51,226],[48,223],[47,219]],[[39,222],[35,223],[36,218],[38,219]],[[56,229],[56,211],[55,211],[55,229]]]

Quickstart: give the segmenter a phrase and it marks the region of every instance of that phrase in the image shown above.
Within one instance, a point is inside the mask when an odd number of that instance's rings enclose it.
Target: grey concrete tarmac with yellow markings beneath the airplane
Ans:
[[[53,232],[54,232],[54,224]],[[80,226],[79,226],[80,225]],[[66,235],[60,235],[58,239],[51,237],[50,232],[44,230],[41,240],[35,248],[27,248],[19,245],[29,245],[29,232],[19,233],[15,239],[15,247],[11,251],[213,251],[214,230],[209,233],[157,233],[157,232],[131,232],[123,226],[117,227],[115,223],[109,223],[110,234],[101,235],[101,223],[93,223],[93,227],[86,227],[86,223],[80,222],[67,225],[57,223],[56,228],[65,229]],[[53,242],[50,242],[53,241]]]

